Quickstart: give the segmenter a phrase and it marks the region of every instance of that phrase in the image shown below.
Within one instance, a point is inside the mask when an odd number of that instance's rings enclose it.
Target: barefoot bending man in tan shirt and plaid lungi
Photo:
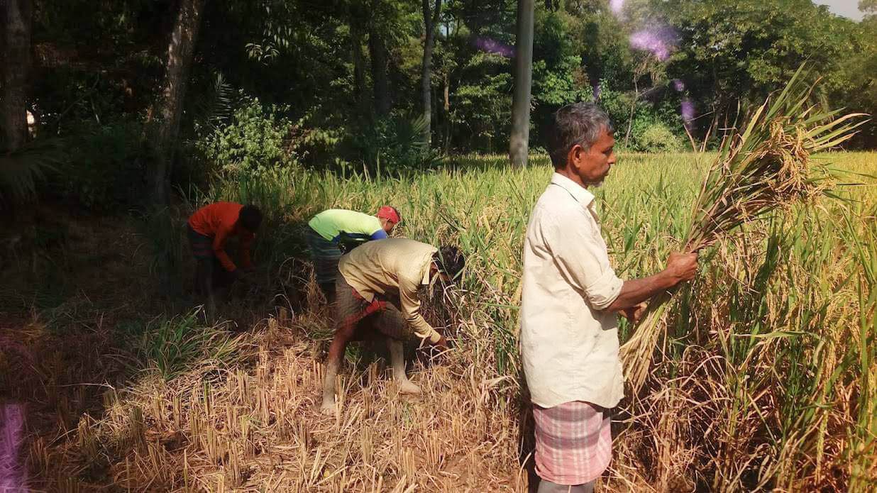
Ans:
[[[347,343],[370,332],[387,337],[393,378],[402,392],[420,392],[405,375],[403,339],[414,335],[439,347],[447,347],[447,341],[420,314],[417,291],[437,278],[453,282],[464,264],[457,247],[438,250],[405,238],[372,241],[341,257],[335,283],[338,325],[326,360],[324,414],[335,411],[335,375]]]

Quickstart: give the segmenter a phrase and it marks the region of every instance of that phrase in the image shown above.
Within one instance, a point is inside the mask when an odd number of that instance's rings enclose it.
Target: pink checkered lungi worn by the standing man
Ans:
[[[550,408],[533,404],[536,474],[557,484],[594,481],[609,467],[612,432],[608,410],[581,401]]]

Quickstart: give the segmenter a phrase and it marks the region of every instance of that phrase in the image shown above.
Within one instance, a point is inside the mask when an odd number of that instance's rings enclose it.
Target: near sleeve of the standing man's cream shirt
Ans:
[[[543,234],[560,274],[592,308],[605,310],[621,294],[624,281],[610,266],[606,245],[591,221],[578,214],[546,215]]]

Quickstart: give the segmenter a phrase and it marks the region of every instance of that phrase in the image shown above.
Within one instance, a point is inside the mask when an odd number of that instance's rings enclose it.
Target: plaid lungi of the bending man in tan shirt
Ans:
[[[358,329],[381,332],[392,339],[410,338],[410,327],[399,311],[396,299],[375,296],[369,303],[340,272],[335,280],[335,296],[339,328],[354,325]]]

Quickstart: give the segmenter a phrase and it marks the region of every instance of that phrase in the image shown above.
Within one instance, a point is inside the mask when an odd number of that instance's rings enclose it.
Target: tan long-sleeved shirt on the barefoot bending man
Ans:
[[[369,302],[374,295],[399,295],[405,321],[420,339],[438,342],[439,332],[420,314],[417,289],[430,282],[436,247],[407,238],[369,241],[341,257],[338,269],[347,283]]]

